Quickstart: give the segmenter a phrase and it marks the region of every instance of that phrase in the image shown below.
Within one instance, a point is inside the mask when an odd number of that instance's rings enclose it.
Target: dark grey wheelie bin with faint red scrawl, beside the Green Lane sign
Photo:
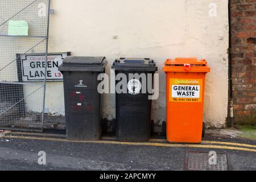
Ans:
[[[65,127],[69,140],[98,140],[102,133],[101,94],[97,77],[105,72],[105,57],[69,56],[59,66],[63,73]]]

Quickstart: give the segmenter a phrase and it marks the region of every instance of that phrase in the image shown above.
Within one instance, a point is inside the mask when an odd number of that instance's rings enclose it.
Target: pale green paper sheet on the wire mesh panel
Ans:
[[[28,36],[28,24],[23,20],[9,20],[8,35]]]

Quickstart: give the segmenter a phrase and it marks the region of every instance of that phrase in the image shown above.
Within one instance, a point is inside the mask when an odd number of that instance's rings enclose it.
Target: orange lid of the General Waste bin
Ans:
[[[164,72],[210,72],[206,60],[198,60],[195,57],[179,57],[174,60],[167,59],[163,65]]]

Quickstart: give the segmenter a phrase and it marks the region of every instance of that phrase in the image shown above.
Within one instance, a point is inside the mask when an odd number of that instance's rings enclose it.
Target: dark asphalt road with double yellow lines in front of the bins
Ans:
[[[46,152],[40,165],[38,152]],[[0,135],[0,170],[184,170],[187,152],[228,156],[229,170],[256,170],[256,141],[209,134],[200,144],[170,144],[158,135],[149,142],[68,141],[64,131],[5,131]]]

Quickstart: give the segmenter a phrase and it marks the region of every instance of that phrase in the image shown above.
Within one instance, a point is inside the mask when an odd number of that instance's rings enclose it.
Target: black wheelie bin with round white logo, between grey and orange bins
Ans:
[[[114,61],[115,75],[123,73],[127,77],[127,92],[115,93],[115,135],[119,141],[146,142],[151,133],[151,103],[148,90],[142,92],[142,78],[129,78],[129,73],[154,75],[158,70],[152,59],[120,58]],[[130,80],[129,80],[129,79]],[[116,81],[118,84],[119,81]]]

